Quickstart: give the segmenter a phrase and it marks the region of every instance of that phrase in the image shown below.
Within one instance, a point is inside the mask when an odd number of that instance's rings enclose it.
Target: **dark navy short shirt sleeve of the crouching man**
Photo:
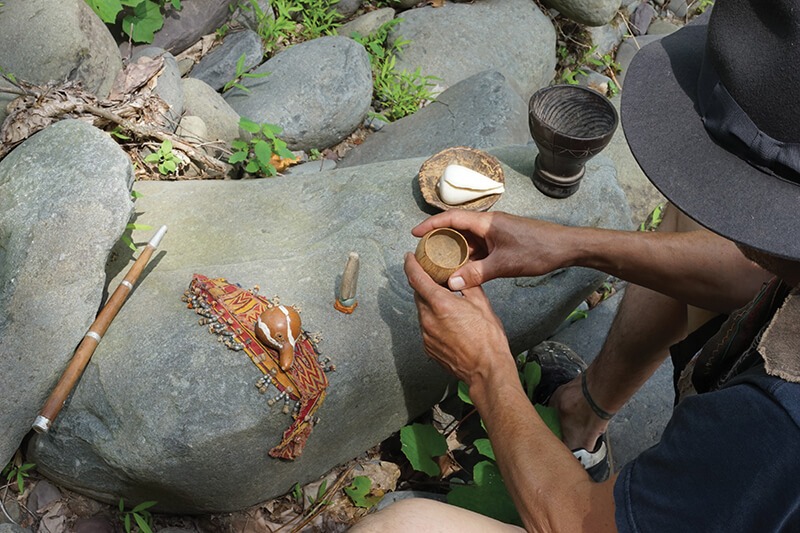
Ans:
[[[800,531],[800,385],[685,399],[614,486],[619,531]]]

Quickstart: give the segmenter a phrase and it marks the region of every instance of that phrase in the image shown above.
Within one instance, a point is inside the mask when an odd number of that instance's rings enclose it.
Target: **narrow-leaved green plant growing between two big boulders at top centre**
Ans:
[[[422,76],[420,69],[414,72],[395,69],[397,55],[410,43],[397,39],[389,45],[389,33],[403,19],[395,18],[380,28],[363,36],[354,32],[352,37],[366,48],[374,78],[374,101],[378,112],[374,115],[386,122],[399,120],[414,113],[426,101],[433,99],[431,88],[439,79]]]

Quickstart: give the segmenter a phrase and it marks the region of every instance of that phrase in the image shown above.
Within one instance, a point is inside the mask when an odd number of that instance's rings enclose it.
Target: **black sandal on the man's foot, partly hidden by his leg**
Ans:
[[[568,346],[554,341],[544,341],[528,351],[528,361],[536,361],[542,368],[542,379],[533,392],[533,403],[548,405],[553,392],[586,370],[586,363]],[[581,465],[594,481],[605,481],[612,470],[611,449],[605,434],[598,437],[593,450],[572,450]]]

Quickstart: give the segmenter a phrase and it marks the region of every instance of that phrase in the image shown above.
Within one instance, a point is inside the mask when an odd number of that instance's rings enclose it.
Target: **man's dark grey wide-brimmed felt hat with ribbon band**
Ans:
[[[794,12],[788,16],[778,9],[771,15],[777,18],[764,20],[749,12],[758,10],[753,4],[759,3],[770,4],[768,9],[781,4]],[[770,164],[733,153],[737,150],[731,150],[730,143],[706,129],[701,118],[705,97],[700,97],[702,104],[698,102],[704,55],[723,56],[712,63],[717,65],[715,79],[723,80],[733,98],[741,100],[741,108],[755,116],[757,131],[769,130],[780,146],[800,142],[800,62],[793,62],[798,46],[797,41],[791,42],[800,33],[800,9],[793,3],[718,0],[710,16],[643,47],[626,73],[621,115],[639,166],[671,203],[730,240],[800,260],[796,230],[800,174],[791,169],[782,172],[781,165],[776,173],[766,168]],[[782,21],[784,28],[771,28],[775,20]],[[738,35],[722,35],[734,31]],[[783,49],[782,39],[786,40]],[[782,53],[793,55],[781,58]]]

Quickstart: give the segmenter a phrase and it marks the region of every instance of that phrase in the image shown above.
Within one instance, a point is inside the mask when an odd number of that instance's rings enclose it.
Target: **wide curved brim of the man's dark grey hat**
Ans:
[[[766,174],[719,146],[697,110],[706,24],[643,47],[622,91],[625,137],[642,171],[671,203],[732,241],[800,259],[800,185]]]

